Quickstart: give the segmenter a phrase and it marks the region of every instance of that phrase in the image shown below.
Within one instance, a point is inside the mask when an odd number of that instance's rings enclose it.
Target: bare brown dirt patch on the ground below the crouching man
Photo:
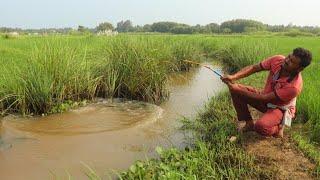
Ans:
[[[256,157],[262,168],[276,171],[275,179],[315,179],[310,173],[315,165],[296,149],[288,131],[282,139],[262,137],[255,132],[247,132],[243,137],[244,149]]]

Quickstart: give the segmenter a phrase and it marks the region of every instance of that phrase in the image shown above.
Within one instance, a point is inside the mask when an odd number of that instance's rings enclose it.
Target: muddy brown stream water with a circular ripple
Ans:
[[[195,116],[223,87],[205,68],[171,77],[170,98],[160,106],[97,100],[63,114],[7,116],[0,129],[0,179],[85,179],[85,165],[103,178],[135,160],[154,157],[156,146],[183,146],[177,119]]]

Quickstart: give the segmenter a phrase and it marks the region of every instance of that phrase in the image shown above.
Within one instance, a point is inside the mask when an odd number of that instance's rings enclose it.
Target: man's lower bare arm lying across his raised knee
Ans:
[[[241,94],[243,96],[255,99],[257,101],[269,103],[269,102],[272,102],[274,100],[279,99],[279,97],[276,95],[275,92],[270,92],[268,94],[257,94],[257,93],[250,92],[247,89],[240,88],[239,85],[236,83],[228,82],[227,85],[228,85],[230,91],[233,91],[233,92],[236,92],[236,93]]]

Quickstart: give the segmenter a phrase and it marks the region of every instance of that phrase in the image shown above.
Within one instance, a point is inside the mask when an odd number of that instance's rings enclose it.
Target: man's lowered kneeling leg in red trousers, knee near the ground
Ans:
[[[255,123],[255,131],[264,136],[277,135],[282,116],[283,112],[280,109],[268,109]]]

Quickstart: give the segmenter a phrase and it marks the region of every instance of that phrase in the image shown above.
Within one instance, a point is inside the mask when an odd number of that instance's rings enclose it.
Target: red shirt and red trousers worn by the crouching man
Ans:
[[[284,56],[277,55],[267,58],[260,63],[260,66],[263,69],[269,70],[266,85],[262,92],[250,86],[241,85],[240,87],[252,93],[258,94],[265,94],[274,91],[276,96],[278,96],[278,99],[271,102],[272,104],[278,106],[289,104],[300,94],[302,90],[302,76],[299,73],[290,81],[288,77],[278,78],[277,76],[279,75],[284,60]],[[259,102],[235,92],[231,93],[231,97],[239,121],[252,120],[251,114],[248,110],[248,105],[251,105],[252,107],[264,113],[263,116],[255,123],[255,130],[258,133],[266,136],[278,133],[279,125],[283,117],[283,112],[280,109],[268,109],[266,103]],[[294,114],[295,107],[290,108],[290,111],[292,114]]]

